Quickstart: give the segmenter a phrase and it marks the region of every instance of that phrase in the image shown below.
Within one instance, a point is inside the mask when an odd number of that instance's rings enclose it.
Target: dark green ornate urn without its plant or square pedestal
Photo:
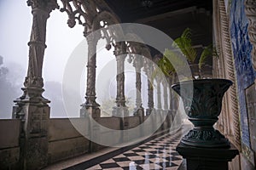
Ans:
[[[199,147],[229,147],[230,142],[213,125],[218,121],[224,93],[232,82],[225,79],[198,79],[172,85],[183,99],[189,121],[194,128],[181,143]]]

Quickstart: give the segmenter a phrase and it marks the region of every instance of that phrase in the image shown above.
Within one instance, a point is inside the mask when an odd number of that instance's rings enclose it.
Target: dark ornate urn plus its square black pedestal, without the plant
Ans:
[[[172,85],[183,100],[189,121],[194,124],[176,149],[186,158],[188,170],[228,169],[228,161],[239,154],[213,127],[221,112],[224,93],[231,85],[232,82],[225,79],[199,79]]]

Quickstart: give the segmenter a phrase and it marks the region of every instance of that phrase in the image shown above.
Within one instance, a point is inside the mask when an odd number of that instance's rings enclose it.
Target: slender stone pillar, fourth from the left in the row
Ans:
[[[134,59],[133,66],[136,70],[136,107],[134,109],[134,115],[141,117],[141,122],[144,118],[144,108],[142,102],[142,79],[141,79],[141,69],[143,67],[143,58],[141,55],[137,55]]]

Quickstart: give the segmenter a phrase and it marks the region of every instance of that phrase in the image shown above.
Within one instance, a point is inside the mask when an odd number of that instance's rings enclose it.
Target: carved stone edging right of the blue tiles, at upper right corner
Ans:
[[[246,0],[245,1],[245,13],[249,20],[248,26],[248,36],[250,42],[253,44],[252,50],[252,61],[253,68],[256,70],[256,1],[255,0]]]

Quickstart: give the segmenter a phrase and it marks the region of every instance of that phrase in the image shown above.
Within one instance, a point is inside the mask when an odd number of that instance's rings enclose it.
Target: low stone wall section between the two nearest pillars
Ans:
[[[88,120],[73,118],[72,122],[84,127],[84,133],[88,133]],[[85,139],[68,118],[49,120],[49,163],[78,156],[89,151],[90,141]]]

